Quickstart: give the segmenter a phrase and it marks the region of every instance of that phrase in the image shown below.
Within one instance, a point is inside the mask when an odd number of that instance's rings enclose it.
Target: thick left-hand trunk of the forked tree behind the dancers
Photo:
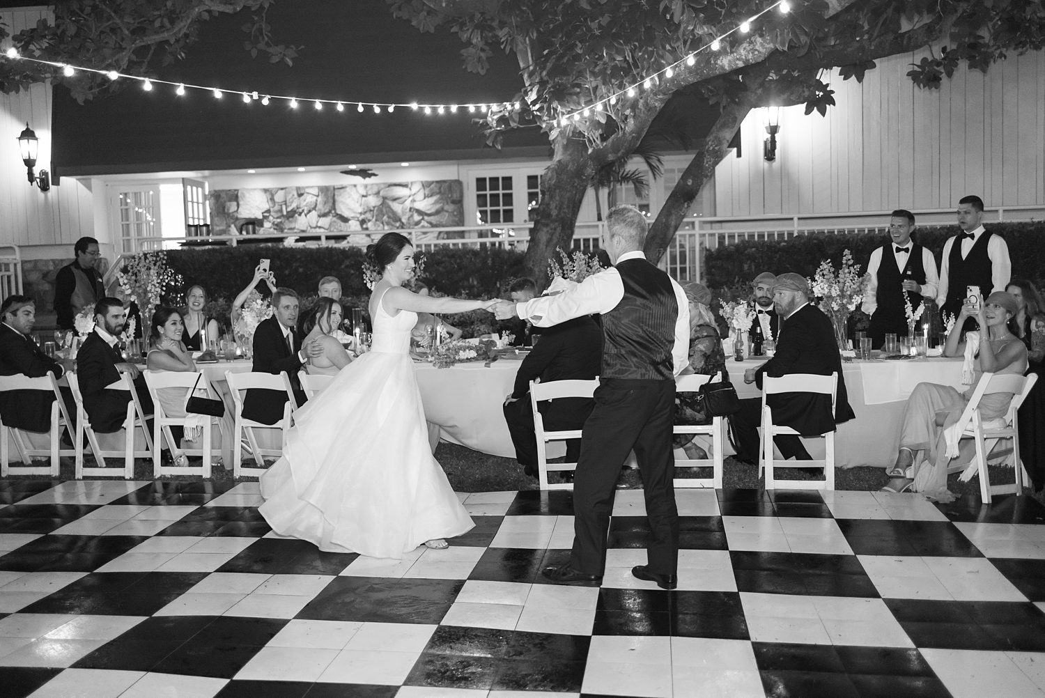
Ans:
[[[595,164],[584,141],[557,139],[552,164],[541,180],[537,217],[522,259],[527,273],[538,286],[548,280],[548,260],[555,248],[561,247],[568,252],[577,214],[594,176]]]

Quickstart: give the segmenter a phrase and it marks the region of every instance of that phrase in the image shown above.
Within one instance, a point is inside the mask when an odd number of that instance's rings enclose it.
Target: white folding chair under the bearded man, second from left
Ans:
[[[106,390],[121,390],[131,393],[131,399],[127,400],[126,415],[123,418],[120,429],[117,431],[117,433],[119,431],[123,432],[123,448],[121,450],[103,449],[101,447],[101,444],[98,442],[98,435],[92,428],[87,416],[87,410],[84,409],[84,395],[79,392],[79,380],[77,380],[75,373],[69,373],[67,377],[69,378],[69,390],[72,391],[73,400],[76,402],[76,435],[73,439],[76,444],[76,479],[79,480],[86,475],[112,476],[116,474],[119,470],[106,467],[106,458],[119,458],[121,456],[123,457],[123,478],[126,480],[133,479],[134,460],[136,458],[153,458],[153,437],[145,426],[145,422],[152,418],[152,415],[146,415],[142,411],[141,401],[138,399],[138,392],[134,388],[131,375],[122,373],[119,379],[106,386]],[[135,449],[135,432],[137,429],[141,429],[141,434],[145,438],[145,448],[143,450]],[[98,463],[96,467],[84,465],[85,434],[87,434],[87,442],[91,446],[91,452],[94,453],[94,460]]]

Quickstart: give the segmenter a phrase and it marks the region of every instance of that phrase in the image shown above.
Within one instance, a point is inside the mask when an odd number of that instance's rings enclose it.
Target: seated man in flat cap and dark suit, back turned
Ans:
[[[773,423],[790,426],[802,435],[819,435],[835,431],[835,425],[856,415],[849,403],[842,359],[831,321],[819,308],[810,305],[809,282],[800,274],[782,274],[773,285],[773,305],[784,318],[784,329],[776,339],[776,353],[768,362],[744,372],[744,382],[762,389],[763,376],[780,377],[792,373],[815,375],[838,374],[835,392],[835,413],[831,414],[831,396],[812,393],[780,393],[770,395],[768,406]],[[729,417],[737,458],[745,463],[759,461],[759,432],[762,421],[762,399],[751,397],[740,401],[740,412]],[[811,461],[812,457],[794,435],[780,435],[773,442],[785,459]]]

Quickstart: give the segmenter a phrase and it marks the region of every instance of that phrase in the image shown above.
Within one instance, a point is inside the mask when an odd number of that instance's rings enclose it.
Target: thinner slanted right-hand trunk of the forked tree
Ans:
[[[747,113],[751,111],[750,102],[734,103],[726,107],[712,126],[703,145],[693,156],[693,160],[678,178],[678,183],[671,190],[668,200],[657,213],[656,220],[650,226],[646,236],[646,258],[654,264],[668,250],[675,237],[678,227],[690,210],[693,200],[700,193],[700,188],[715,173],[715,166],[722,161],[729,146],[729,141],[740,127]],[[758,153],[758,148],[750,148]],[[753,157],[753,156],[752,156]]]

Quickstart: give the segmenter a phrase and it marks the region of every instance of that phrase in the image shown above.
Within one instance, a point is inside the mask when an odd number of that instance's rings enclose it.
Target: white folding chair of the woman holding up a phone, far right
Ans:
[[[972,480],[974,474],[979,473],[980,496],[983,498],[983,504],[991,504],[992,496],[995,494],[1019,494],[1030,482],[1030,479],[1024,471],[1023,463],[1020,461],[1020,425],[1018,415],[1020,405],[1027,399],[1037,380],[1038,375],[1035,373],[1028,376],[1012,373],[984,373],[980,376],[979,382],[976,383],[976,388],[969,399],[969,404],[966,405],[966,409],[961,412],[961,416],[958,417],[958,421],[955,423],[955,428],[961,431],[961,439],[973,439],[976,443],[976,457],[965,469],[965,472],[961,473],[960,480],[968,482]],[[984,421],[980,415],[979,403],[984,395],[992,393],[1012,393],[1013,399],[1009,401],[1008,410],[1003,417]],[[1001,439],[1013,440],[1011,461],[1013,465],[1013,482],[1002,485],[992,485],[991,476],[988,472],[989,462],[997,460],[1004,462],[1008,460],[1007,458],[992,458],[992,451]],[[1006,449],[1004,455],[1007,456],[1008,452]]]

